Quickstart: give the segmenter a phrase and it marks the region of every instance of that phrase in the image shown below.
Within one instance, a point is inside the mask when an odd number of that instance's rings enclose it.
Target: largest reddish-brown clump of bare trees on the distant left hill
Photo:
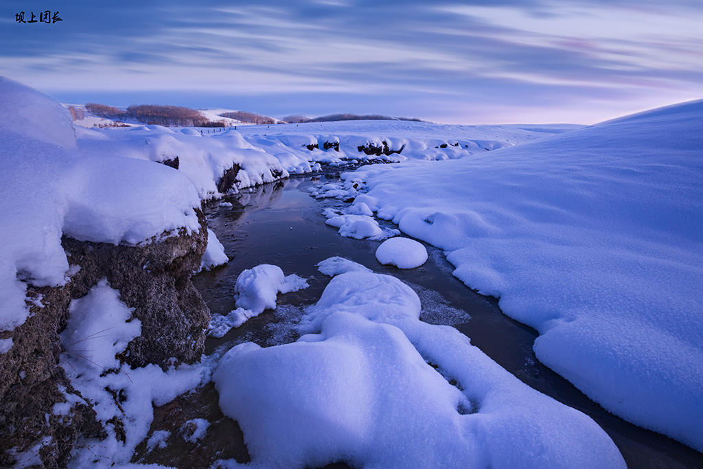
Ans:
[[[105,119],[136,120],[143,124],[158,124],[176,127],[225,127],[224,121],[211,121],[200,111],[182,106],[140,104],[127,110],[96,103],[87,103],[89,112]]]

